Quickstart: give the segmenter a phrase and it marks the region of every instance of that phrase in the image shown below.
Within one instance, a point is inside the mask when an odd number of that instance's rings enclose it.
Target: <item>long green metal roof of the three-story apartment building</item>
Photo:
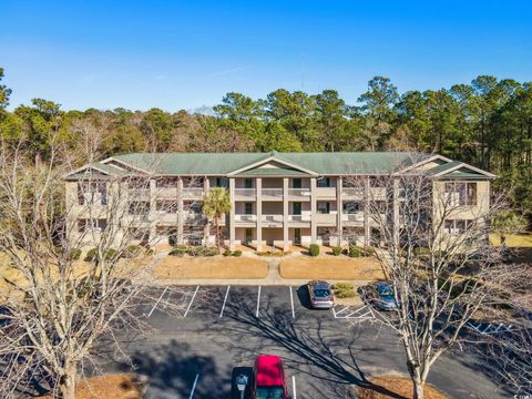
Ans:
[[[176,176],[304,176],[304,175],[366,175],[388,174],[401,170],[430,155],[418,153],[412,156],[407,152],[340,152],[340,153],[132,153],[115,155],[103,162],[88,165],[98,167],[112,175],[129,172],[110,163],[117,161],[130,167],[158,175]],[[266,162],[277,167],[259,167]],[[427,173],[438,174],[462,164],[458,161],[446,162],[430,168]],[[483,176],[464,165],[466,171],[453,171],[460,177],[466,173]],[[82,170],[68,175],[66,178],[82,178]],[[94,170],[93,170],[94,171]],[[452,173],[444,175],[451,177]],[[86,176],[86,175],[84,175]]]

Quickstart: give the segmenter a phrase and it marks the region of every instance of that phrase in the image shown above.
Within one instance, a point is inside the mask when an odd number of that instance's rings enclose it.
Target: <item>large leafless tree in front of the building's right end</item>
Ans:
[[[416,164],[412,156],[410,164]],[[364,192],[368,231],[397,308],[374,313],[399,335],[413,397],[433,364],[460,344],[468,321],[501,301],[499,247],[488,239],[490,221],[505,208],[488,183],[432,178],[423,167],[398,163],[379,177],[350,177]],[[478,191],[483,194],[478,195]]]

